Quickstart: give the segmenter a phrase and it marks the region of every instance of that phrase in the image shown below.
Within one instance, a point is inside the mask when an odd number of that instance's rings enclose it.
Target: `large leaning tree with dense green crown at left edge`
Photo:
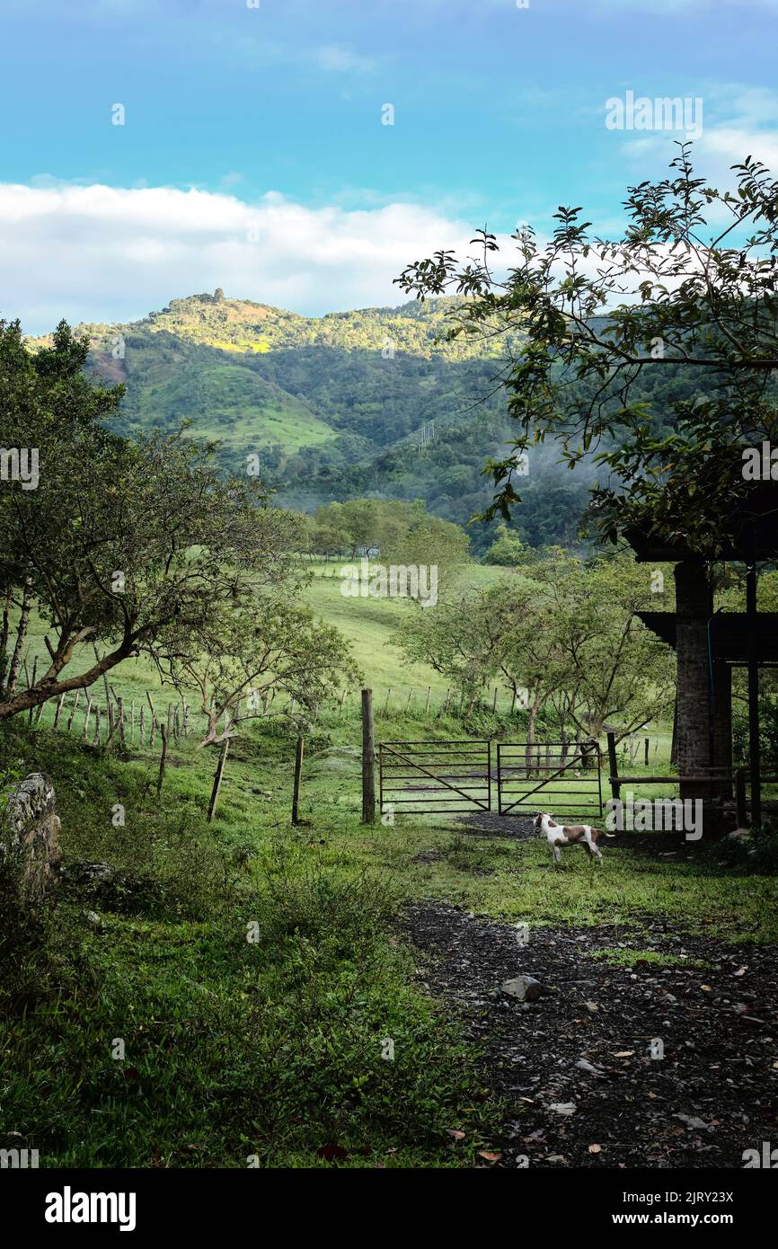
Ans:
[[[295,518],[265,506],[251,477],[225,478],[214,448],[182,431],[130,442],[101,423],[121,390],[84,375],[86,342],[61,325],[54,346],[29,353],[17,325],[0,330],[4,436],[39,456],[36,488],[0,491],[0,592],[19,606],[0,719],[91,686],[146,652],[177,661],[214,639],[230,618],[245,626],[268,600],[293,598],[301,572]],[[6,422],[7,417],[7,422]],[[29,607],[46,624],[49,662],[26,689],[16,683]],[[4,642],[11,627],[2,626]],[[341,656],[307,627],[312,669]],[[94,662],[81,659],[95,643]],[[327,663],[330,667],[327,668]],[[315,682],[313,682],[315,684]]]

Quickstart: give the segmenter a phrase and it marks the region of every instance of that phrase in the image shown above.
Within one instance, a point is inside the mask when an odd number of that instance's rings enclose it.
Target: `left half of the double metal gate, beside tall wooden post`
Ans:
[[[461,742],[381,742],[381,814],[462,814],[492,809],[492,744]],[[400,808],[400,809],[398,809]]]

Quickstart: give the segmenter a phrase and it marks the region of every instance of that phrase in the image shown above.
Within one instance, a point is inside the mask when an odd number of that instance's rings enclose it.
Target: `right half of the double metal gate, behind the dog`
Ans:
[[[569,747],[568,747],[569,749]],[[572,754],[562,742],[497,743],[497,811],[531,816],[538,811],[564,816],[602,816],[599,747]]]

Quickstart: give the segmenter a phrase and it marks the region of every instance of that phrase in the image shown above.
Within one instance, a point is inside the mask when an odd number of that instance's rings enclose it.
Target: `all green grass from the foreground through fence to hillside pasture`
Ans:
[[[491,699],[468,728],[442,716],[445,683],[403,667],[388,642],[402,605],[343,598],[333,570],[321,566],[310,601],[370,676],[376,741],[522,736],[521,717],[507,704],[493,716]],[[36,620],[31,651],[41,638]],[[111,683],[125,702],[169,697],[141,661]],[[472,1165],[502,1109],[415,973],[397,926],[413,901],[531,927],[609,924],[616,962],[634,958],[659,916],[724,942],[778,939],[774,878],[716,853],[651,857],[634,833],[606,848],[602,869],[571,851],[554,871],[544,843],[476,837],[446,816],[361,826],[356,691],[323,708],[306,742],[297,827],[283,718],[235,741],[209,826],[216,752],[195,733],[171,746],[157,797],[159,743],[124,757],[84,747],[81,711],[62,731],[69,707],[57,733],[52,708],[37,726],[0,728],[4,778],[54,778],[70,873],[81,861],[116,873],[107,893],[65,884],[44,932],[0,950],[0,1132],[20,1133],[41,1165]],[[651,771],[668,772],[667,726],[649,737]],[[641,772],[642,751],[622,766]]]

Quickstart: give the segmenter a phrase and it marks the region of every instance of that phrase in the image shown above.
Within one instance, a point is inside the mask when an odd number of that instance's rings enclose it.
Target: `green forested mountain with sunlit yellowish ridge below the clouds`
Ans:
[[[356,497],[422,500],[436,516],[468,525],[492,498],[487,460],[507,453],[506,392],[497,387],[501,342],[483,355],[446,340],[452,299],[302,317],[222,291],[172,300],[126,326],[82,325],[90,368],[126,393],[111,427],[171,432],[190,422],[217,440],[225,467],[252,471],[281,503],[313,512]],[[42,340],[44,342],[46,340]],[[634,397],[634,396],[633,396]],[[639,398],[647,420],[672,423],[671,405],[693,398],[674,368],[648,372]],[[574,411],[586,401],[572,382]],[[517,481],[512,528],[532,546],[574,546],[586,528],[589,457],[571,473],[537,447]],[[473,553],[493,523],[470,525]]]

